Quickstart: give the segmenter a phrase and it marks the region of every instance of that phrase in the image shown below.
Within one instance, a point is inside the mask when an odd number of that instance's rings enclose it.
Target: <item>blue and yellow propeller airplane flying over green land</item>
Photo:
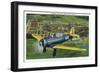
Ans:
[[[76,48],[76,47],[62,45],[62,43],[65,41],[68,40],[73,41],[75,39],[80,39],[80,36],[78,34],[75,34],[74,27],[71,28],[70,32],[53,33],[53,34],[49,34],[46,37],[42,37],[37,34],[32,34],[32,36],[37,40],[37,42],[34,43],[34,48],[37,52],[41,52],[41,53],[46,52],[47,47],[54,49],[53,56],[56,55],[57,49],[79,51],[79,52],[86,51],[86,49],[84,48]]]

